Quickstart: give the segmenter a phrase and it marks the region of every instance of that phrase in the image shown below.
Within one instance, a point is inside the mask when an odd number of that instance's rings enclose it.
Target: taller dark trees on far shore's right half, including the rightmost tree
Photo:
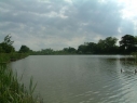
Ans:
[[[85,42],[79,46],[78,53],[84,54],[131,54],[137,50],[137,37],[125,35],[119,41],[115,37],[100,39],[97,43]]]

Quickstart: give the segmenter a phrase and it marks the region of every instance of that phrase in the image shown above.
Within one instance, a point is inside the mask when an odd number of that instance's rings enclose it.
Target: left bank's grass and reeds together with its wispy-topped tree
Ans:
[[[8,66],[8,63],[28,56],[28,53],[16,52],[11,36],[0,43],[0,103],[42,103],[42,99],[33,95],[37,83],[30,78],[29,87],[22,83],[22,78]]]

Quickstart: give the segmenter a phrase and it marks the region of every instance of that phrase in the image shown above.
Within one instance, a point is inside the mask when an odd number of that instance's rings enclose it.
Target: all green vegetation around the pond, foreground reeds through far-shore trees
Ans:
[[[119,41],[114,37],[100,39],[97,43],[85,42],[80,44],[78,50],[74,48],[64,48],[54,51],[52,49],[42,49],[41,51],[32,51],[27,46],[22,46],[15,51],[11,36],[5,36],[0,43],[0,103],[42,103],[38,98],[33,98],[33,90],[37,85],[32,83],[30,78],[29,89],[20,83],[17,75],[13,73],[6,65],[9,62],[24,59],[28,55],[46,55],[46,54],[132,54],[137,61],[137,37],[125,35]]]

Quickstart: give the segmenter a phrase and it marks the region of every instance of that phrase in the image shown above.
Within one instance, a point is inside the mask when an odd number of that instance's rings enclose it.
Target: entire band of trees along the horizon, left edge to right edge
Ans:
[[[40,51],[32,51],[27,46],[20,46],[18,51],[15,51],[11,40],[11,36],[5,36],[4,40],[0,43],[0,53],[29,53],[33,55],[46,55],[46,54],[131,54],[137,51],[137,37],[132,35],[125,35],[121,37],[119,46],[115,37],[107,37],[106,39],[95,42],[84,42],[80,44],[78,49],[72,47],[64,48],[63,50],[41,49]]]

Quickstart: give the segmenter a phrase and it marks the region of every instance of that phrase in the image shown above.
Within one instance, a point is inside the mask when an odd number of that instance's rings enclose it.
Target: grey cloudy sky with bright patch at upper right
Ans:
[[[0,0],[0,42],[11,34],[16,50],[97,42],[137,34],[137,0]]]

